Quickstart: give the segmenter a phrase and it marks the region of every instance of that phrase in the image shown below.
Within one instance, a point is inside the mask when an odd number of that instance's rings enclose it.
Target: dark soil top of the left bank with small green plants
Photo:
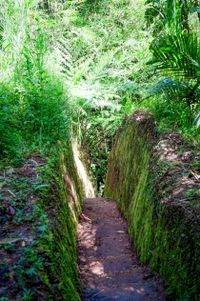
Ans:
[[[36,154],[21,167],[0,171],[0,300],[36,300],[34,290],[44,300],[33,251],[40,226],[37,169],[44,164]]]

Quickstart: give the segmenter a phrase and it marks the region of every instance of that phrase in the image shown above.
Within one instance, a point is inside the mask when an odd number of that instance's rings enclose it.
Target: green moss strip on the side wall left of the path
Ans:
[[[68,182],[65,181],[66,176]],[[82,188],[71,148],[50,162],[44,171],[45,177],[46,181],[51,182],[50,190],[43,198],[51,234],[51,240],[46,241],[45,246],[50,259],[48,281],[53,285],[54,300],[78,301],[76,226],[81,210]]]

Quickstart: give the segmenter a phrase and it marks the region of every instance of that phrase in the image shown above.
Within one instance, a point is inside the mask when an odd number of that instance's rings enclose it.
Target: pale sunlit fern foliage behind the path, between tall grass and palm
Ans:
[[[77,112],[73,129],[101,193],[115,131],[147,86],[151,35],[144,14],[144,1],[123,0],[72,1],[64,11],[70,31],[59,53]]]

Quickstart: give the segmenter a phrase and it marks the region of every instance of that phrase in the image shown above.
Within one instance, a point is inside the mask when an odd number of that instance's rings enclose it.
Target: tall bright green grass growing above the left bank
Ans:
[[[0,156],[48,152],[68,139],[70,126],[62,79],[49,71],[52,24],[37,1],[9,0],[1,28]]]

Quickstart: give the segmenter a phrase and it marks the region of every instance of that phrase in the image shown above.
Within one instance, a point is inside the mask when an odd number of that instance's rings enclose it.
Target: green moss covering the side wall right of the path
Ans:
[[[162,187],[166,184],[163,175],[175,167],[154,156],[156,139],[151,118],[146,117],[141,123],[133,119],[117,134],[105,195],[118,202],[141,262],[149,263],[160,273],[172,300],[197,301],[200,299],[198,222],[185,214],[183,206],[161,202]],[[171,176],[170,181],[173,180]],[[169,187],[165,193],[170,194]]]

